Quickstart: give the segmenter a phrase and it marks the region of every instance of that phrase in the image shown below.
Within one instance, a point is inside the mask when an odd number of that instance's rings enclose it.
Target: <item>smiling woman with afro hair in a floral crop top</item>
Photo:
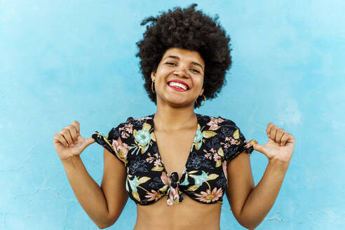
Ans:
[[[271,209],[292,156],[292,135],[269,123],[269,141],[246,140],[234,121],[194,113],[214,98],[231,65],[229,36],[196,4],[156,18],[137,43],[144,88],[156,113],[80,135],[78,121],[54,135],[57,154],[76,198],[100,228],[121,215],[128,197],[137,204],[135,229],[219,230],[223,196],[248,229]],[[93,142],[104,147],[101,187],[88,175],[80,154]],[[269,158],[255,187],[253,150]],[[166,196],[166,199],[163,197]]]

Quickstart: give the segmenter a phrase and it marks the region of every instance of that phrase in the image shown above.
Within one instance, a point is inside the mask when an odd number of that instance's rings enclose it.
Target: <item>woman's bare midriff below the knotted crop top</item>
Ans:
[[[219,230],[221,210],[219,203],[203,204],[187,195],[182,202],[168,206],[166,196],[163,196],[151,205],[137,205],[134,230]]]

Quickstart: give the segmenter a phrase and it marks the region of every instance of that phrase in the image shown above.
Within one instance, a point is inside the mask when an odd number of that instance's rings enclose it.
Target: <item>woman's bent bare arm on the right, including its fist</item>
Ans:
[[[254,187],[250,156],[243,152],[227,167],[227,197],[238,222],[248,229],[255,229],[271,210],[295,147],[295,138],[269,123],[266,144],[254,144],[255,150],[269,158],[262,180]]]

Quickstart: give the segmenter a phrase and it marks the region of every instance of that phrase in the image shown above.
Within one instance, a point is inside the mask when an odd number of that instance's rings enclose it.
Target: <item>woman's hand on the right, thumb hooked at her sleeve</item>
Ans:
[[[266,144],[253,144],[253,148],[270,160],[278,160],[283,163],[290,163],[295,148],[295,137],[282,128],[269,123],[266,128],[269,140]]]

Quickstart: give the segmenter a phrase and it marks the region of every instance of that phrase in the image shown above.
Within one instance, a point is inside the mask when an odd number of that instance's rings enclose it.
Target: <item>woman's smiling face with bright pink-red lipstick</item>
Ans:
[[[196,98],[203,94],[204,72],[205,62],[197,51],[166,50],[156,72],[151,73],[157,106],[168,103],[172,107],[194,107]]]

